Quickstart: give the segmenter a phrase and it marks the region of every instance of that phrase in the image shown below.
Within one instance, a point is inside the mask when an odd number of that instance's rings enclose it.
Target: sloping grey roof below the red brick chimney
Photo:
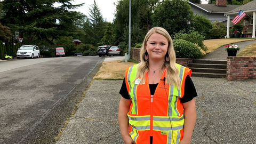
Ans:
[[[215,4],[194,4],[191,2],[189,2],[189,4],[194,5],[199,9],[202,9],[205,12],[209,12],[209,13],[226,13],[230,10],[236,9],[237,7],[241,6],[241,5],[217,6]]]

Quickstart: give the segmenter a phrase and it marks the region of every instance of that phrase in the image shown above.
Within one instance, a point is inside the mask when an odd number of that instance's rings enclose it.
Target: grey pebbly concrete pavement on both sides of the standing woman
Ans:
[[[256,143],[256,79],[191,77],[197,122],[191,143]],[[94,81],[57,143],[123,143],[117,113],[122,81]]]

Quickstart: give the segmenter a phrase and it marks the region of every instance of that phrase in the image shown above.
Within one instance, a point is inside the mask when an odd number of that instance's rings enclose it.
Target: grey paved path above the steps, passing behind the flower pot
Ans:
[[[239,42],[239,43],[234,43],[237,44],[238,47],[241,47],[240,51],[243,50],[246,46],[256,43],[256,40],[254,41],[245,41],[245,42]],[[206,54],[202,59],[207,59],[207,60],[227,60],[228,53],[225,50],[225,46],[221,46],[219,49]],[[238,52],[240,52],[238,51]]]

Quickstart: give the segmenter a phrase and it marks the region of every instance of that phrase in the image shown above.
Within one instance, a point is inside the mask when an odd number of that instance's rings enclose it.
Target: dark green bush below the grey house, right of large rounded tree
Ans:
[[[203,15],[195,15],[193,26],[195,31],[210,39],[210,30],[212,29],[212,23],[209,19],[206,19]]]

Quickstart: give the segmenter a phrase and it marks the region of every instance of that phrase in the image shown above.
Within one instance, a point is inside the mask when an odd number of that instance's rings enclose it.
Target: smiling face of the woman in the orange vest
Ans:
[[[163,35],[157,33],[152,34],[146,43],[148,58],[151,60],[163,60],[168,46],[168,41]]]

